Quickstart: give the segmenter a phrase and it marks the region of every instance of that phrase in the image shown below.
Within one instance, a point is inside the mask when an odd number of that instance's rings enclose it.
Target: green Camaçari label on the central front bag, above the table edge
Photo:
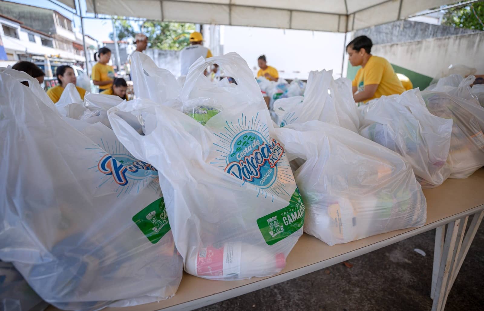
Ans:
[[[257,219],[257,226],[268,245],[273,245],[295,233],[304,224],[304,204],[298,188],[292,194],[289,205]]]

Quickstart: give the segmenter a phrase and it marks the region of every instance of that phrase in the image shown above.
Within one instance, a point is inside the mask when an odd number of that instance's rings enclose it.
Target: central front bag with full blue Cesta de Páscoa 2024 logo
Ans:
[[[207,83],[203,70],[214,63],[238,85]],[[158,169],[185,271],[216,280],[281,271],[302,234],[304,205],[247,63],[236,53],[200,58],[178,102],[139,95],[109,109],[109,120],[122,144]],[[145,135],[120,111],[143,119]]]

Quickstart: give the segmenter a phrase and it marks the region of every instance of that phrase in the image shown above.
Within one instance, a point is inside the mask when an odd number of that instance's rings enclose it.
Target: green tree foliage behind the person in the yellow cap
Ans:
[[[115,21],[118,40],[133,38],[138,32],[130,21],[117,17]],[[195,24],[170,23],[158,21],[140,21],[139,29],[148,37],[148,46],[164,50],[180,50],[190,44],[190,33],[195,31]],[[109,37],[113,40],[111,32]]]

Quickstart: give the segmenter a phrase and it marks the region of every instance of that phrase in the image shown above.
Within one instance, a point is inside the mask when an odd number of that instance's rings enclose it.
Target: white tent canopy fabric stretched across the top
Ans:
[[[161,21],[348,32],[455,0],[86,0],[90,13]]]

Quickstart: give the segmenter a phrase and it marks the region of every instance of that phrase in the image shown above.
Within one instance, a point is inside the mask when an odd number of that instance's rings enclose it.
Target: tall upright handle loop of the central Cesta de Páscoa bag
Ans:
[[[254,94],[254,96],[259,96],[263,100],[256,78],[252,74],[252,71],[250,71],[247,62],[239,54],[231,52],[223,56],[214,56],[208,59],[200,57],[194,62],[188,70],[185,85],[181,91],[182,101],[188,100],[190,93],[196,85],[197,79],[203,74],[205,68],[213,64],[218,64],[224,68],[228,76],[235,78],[238,82],[237,87],[244,89],[244,93]]]

